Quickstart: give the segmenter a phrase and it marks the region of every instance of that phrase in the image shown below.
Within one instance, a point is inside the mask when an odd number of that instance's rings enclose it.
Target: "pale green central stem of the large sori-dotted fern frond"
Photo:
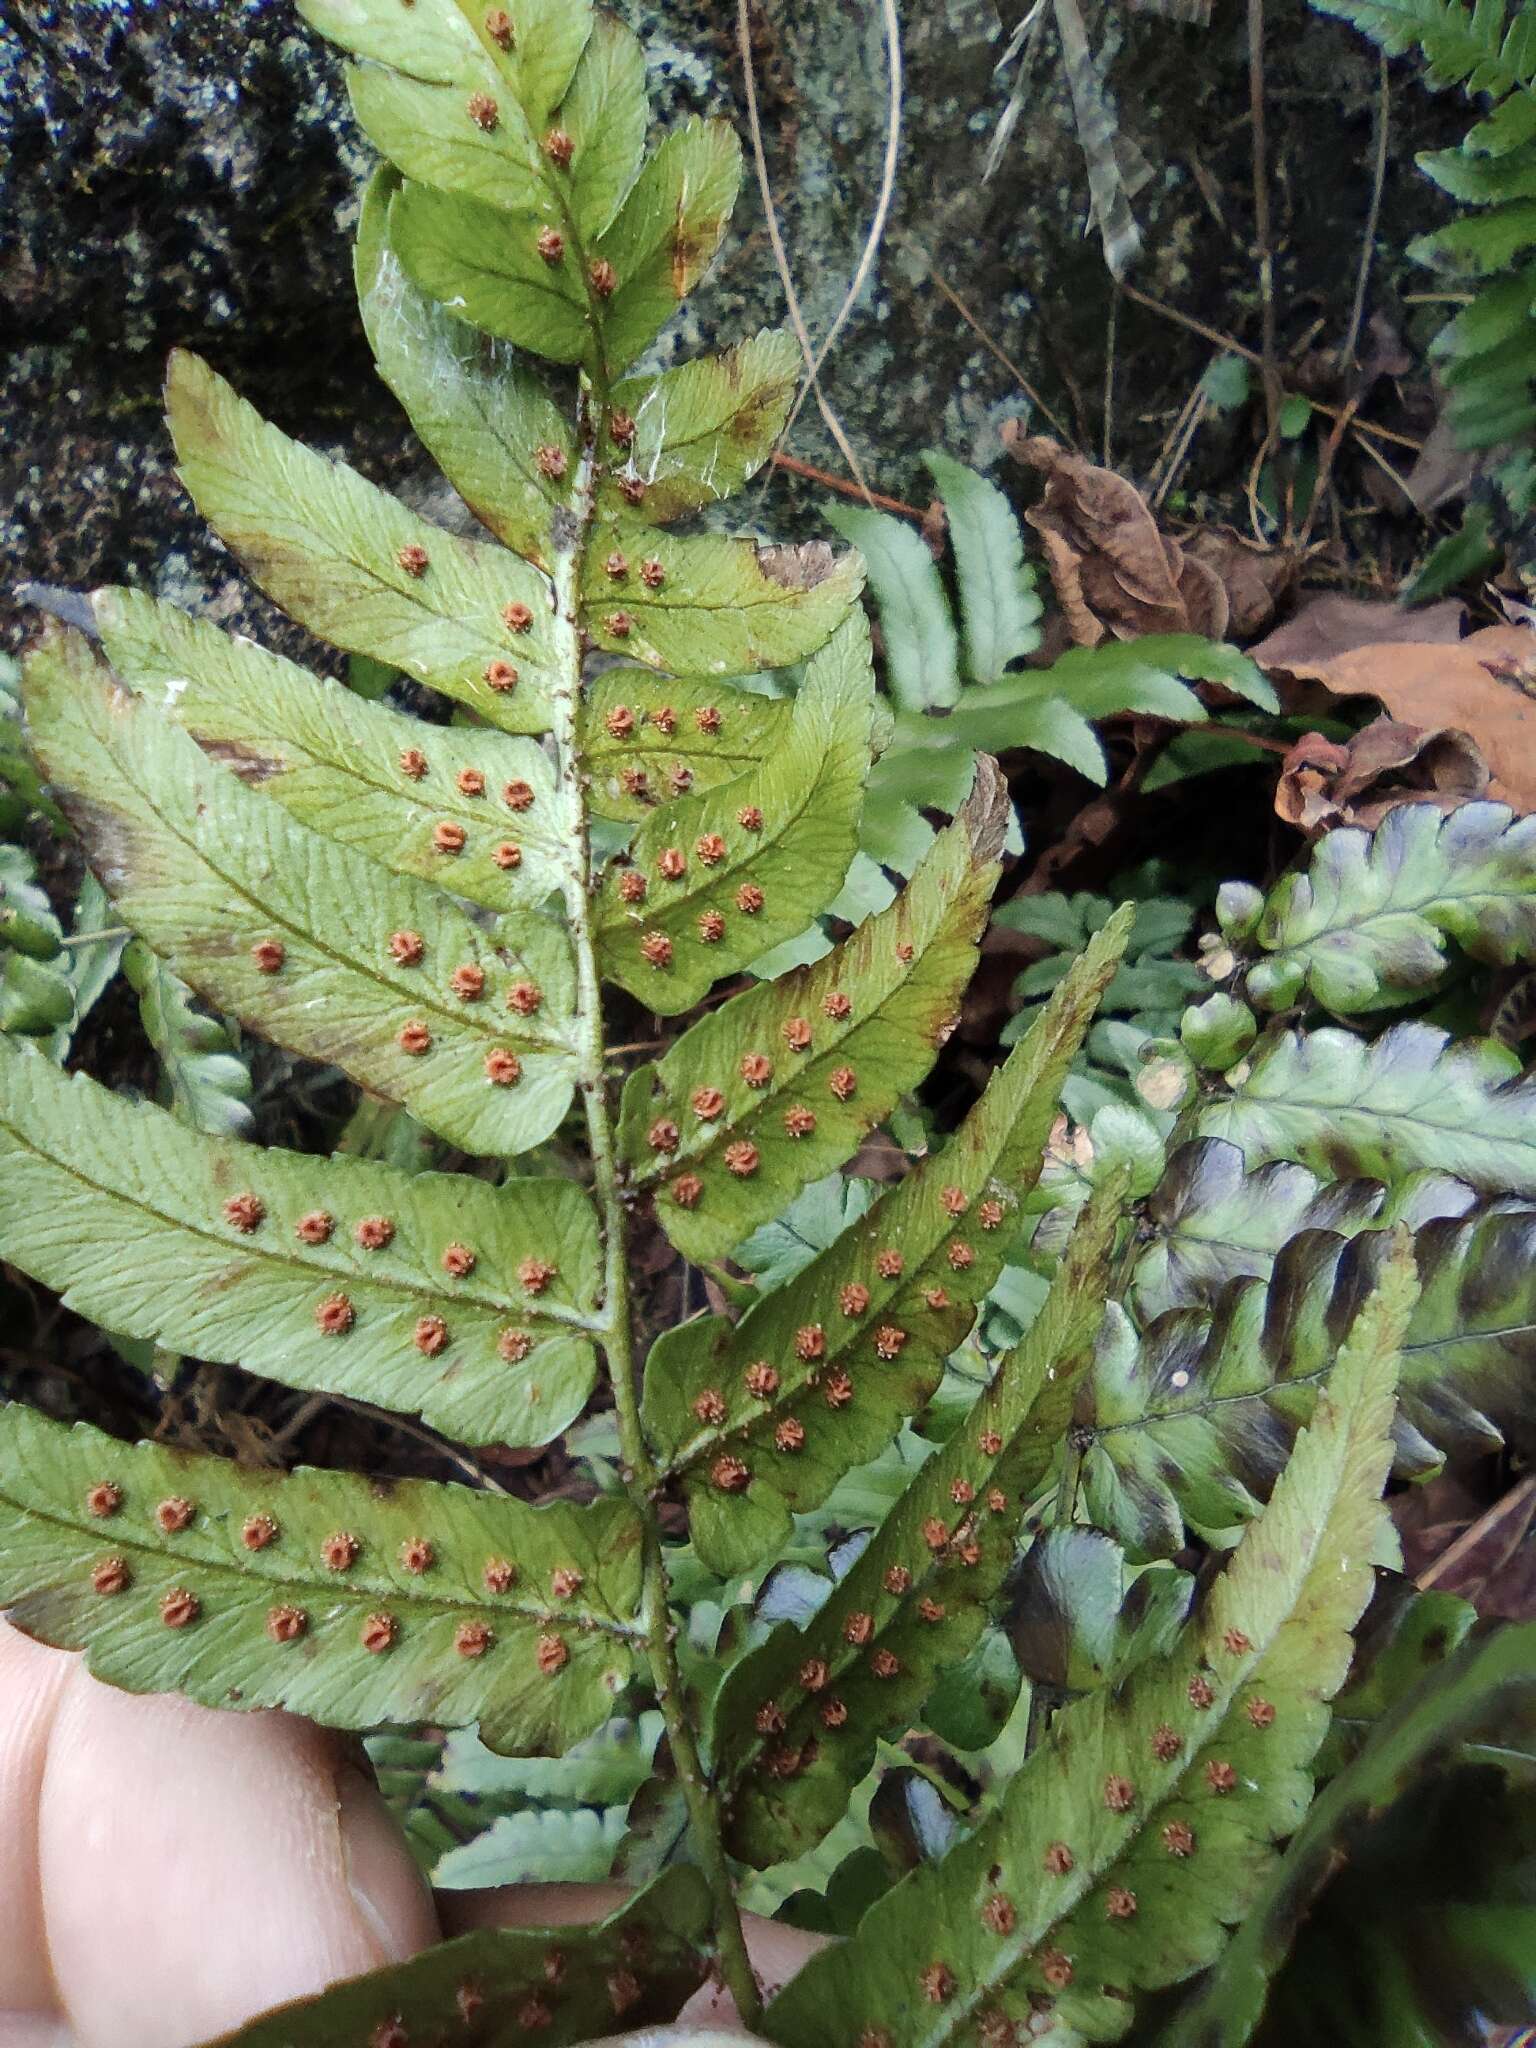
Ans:
[[[586,391],[582,397],[582,467],[578,475],[578,528],[571,545],[555,565],[555,643],[563,682],[555,690],[553,739],[559,758],[559,778],[571,805],[571,864],[565,872],[565,920],[575,956],[578,1090],[586,1112],[588,1149],[592,1155],[592,1194],[602,1229],[602,1350],[608,1364],[625,1489],[643,1526],[645,1559],[641,1581],[641,1628],[651,1667],[655,1704],[672,1749],[672,1761],[688,1808],[688,1827],[698,1868],[713,1901],[715,1946],[725,1987],[735,1999],[743,2025],[756,2028],[762,2013],[758,1980],[752,1972],[741,1913],[721,1837],[715,1790],[698,1755],[698,1743],[688,1720],[682,1671],[674,1649],[672,1614],[668,1606],[668,1571],[662,1550],[662,1530],[655,1518],[657,1470],[651,1458],[639,1413],[639,1376],[635,1331],[629,1313],[629,1260],[625,1198],[618,1186],[614,1153],[612,1106],[608,1102],[606,1047],[602,1030],[602,983],[598,975],[596,940],[590,909],[592,848],[588,811],[582,791],[578,756],[578,705],[582,694],[582,629],[578,621],[578,582],[582,555],[592,528],[592,438],[594,428]]]

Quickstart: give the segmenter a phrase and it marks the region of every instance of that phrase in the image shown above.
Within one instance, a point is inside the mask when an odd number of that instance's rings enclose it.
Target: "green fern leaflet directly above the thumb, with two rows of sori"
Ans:
[[[260,1473],[10,1405],[0,1532],[10,1622],[127,1692],[332,1729],[477,1720],[496,1747],[561,1749],[639,1669],[641,1528],[621,1501]],[[500,1565],[514,1583],[494,1593]]]

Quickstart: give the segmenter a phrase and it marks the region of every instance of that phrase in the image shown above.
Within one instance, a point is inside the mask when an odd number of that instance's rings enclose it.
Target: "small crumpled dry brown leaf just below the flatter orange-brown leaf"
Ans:
[[[1303,733],[1286,754],[1274,807],[1288,825],[1315,838],[1335,825],[1374,831],[1399,803],[1454,811],[1487,786],[1489,766],[1466,733],[1425,733],[1376,719],[1346,745]]]

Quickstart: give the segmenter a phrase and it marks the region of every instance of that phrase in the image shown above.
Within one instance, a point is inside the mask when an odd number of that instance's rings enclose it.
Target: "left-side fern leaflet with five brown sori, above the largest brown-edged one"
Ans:
[[[92,606],[121,680],[301,825],[489,909],[559,887],[573,821],[539,741],[406,719],[137,590],[98,590]],[[506,809],[508,782],[526,782],[526,809]],[[432,836],[444,821],[465,834],[451,860]]]

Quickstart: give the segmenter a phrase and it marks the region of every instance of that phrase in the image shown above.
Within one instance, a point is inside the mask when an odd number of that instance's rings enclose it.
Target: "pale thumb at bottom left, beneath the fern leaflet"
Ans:
[[[289,1714],[131,1698],[76,1665],[39,1882],[80,2048],[182,2048],[438,1939],[371,1778]]]

